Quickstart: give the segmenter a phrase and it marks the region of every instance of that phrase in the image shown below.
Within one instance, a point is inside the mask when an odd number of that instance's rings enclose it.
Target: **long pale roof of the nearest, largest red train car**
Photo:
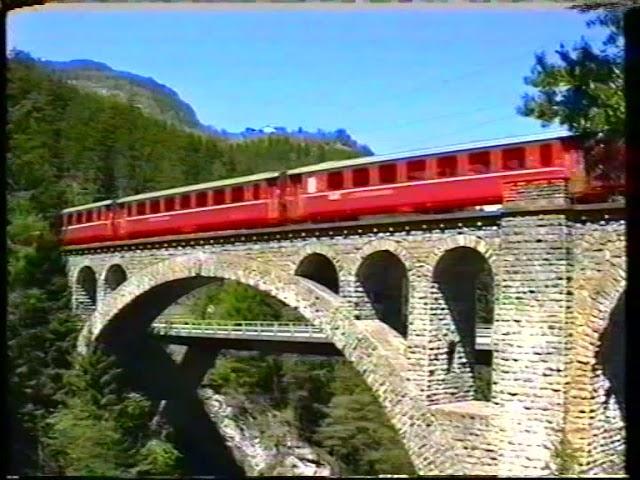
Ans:
[[[543,140],[553,140],[556,138],[566,138],[566,137],[572,137],[572,136],[574,136],[574,134],[572,133],[562,133],[562,132],[558,133],[556,131],[553,134],[541,133],[541,134],[527,135],[527,136],[520,136],[520,137],[484,140],[481,142],[460,143],[456,145],[432,147],[432,148],[427,148],[422,150],[410,150],[406,152],[388,153],[385,155],[374,155],[371,157],[360,157],[360,158],[353,158],[350,160],[332,160],[330,162],[317,163],[315,165],[309,165],[306,167],[287,170],[287,174],[295,175],[299,173],[310,173],[310,172],[317,172],[321,170],[333,170],[336,168],[353,167],[353,166],[365,165],[369,163],[386,162],[389,160],[400,160],[400,159],[412,158],[412,157],[422,157],[425,155],[439,155],[443,153],[454,153],[454,152],[461,152],[465,150],[476,150],[476,149],[487,148],[487,147],[502,147],[506,145],[539,142]]]

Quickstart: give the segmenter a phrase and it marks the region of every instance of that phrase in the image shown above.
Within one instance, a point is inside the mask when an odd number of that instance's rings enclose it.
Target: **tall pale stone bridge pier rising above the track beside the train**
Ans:
[[[493,339],[498,475],[548,475],[564,429],[571,273],[564,213],[516,215],[523,204],[566,205],[566,183],[508,184],[501,222],[500,294]],[[532,232],[535,232],[532,234]]]

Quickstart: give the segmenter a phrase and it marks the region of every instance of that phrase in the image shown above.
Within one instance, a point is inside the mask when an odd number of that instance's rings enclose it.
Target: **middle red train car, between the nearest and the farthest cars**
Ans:
[[[120,198],[114,239],[264,228],[282,223],[280,176],[280,172],[265,172]]]

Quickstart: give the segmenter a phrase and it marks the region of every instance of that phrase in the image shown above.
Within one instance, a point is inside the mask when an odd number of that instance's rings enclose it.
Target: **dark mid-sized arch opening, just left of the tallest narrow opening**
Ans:
[[[356,278],[376,318],[406,338],[409,275],[404,262],[390,250],[376,250],[363,258]]]

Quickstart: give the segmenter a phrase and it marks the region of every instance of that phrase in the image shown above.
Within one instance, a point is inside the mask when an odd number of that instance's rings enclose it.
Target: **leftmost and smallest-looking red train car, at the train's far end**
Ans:
[[[113,240],[113,200],[62,211],[62,243],[83,245]]]

